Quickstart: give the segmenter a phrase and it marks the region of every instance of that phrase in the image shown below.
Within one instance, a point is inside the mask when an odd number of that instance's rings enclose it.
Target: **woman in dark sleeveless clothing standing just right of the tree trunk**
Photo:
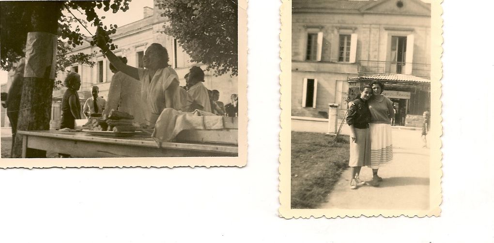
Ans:
[[[81,119],[81,101],[77,91],[81,88],[81,76],[77,73],[69,73],[64,80],[67,87],[62,98],[62,119],[60,128],[76,127],[76,119]]]

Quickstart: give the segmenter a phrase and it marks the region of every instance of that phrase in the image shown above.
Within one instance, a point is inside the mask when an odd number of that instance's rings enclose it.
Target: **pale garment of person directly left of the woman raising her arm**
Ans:
[[[134,116],[134,122],[145,123],[145,103],[141,99],[141,82],[123,72],[117,72],[112,77],[105,112],[112,109],[129,113]]]

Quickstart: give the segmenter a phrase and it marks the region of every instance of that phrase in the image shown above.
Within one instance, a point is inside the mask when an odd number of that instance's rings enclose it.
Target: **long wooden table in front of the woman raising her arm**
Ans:
[[[238,146],[213,143],[157,143],[147,134],[127,138],[89,135],[84,132],[18,131],[22,157],[34,148],[73,157],[190,157],[238,156]]]

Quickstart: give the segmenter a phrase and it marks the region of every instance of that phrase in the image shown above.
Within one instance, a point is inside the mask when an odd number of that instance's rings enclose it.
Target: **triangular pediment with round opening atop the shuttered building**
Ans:
[[[431,15],[430,4],[421,0],[378,0],[365,5],[360,11],[363,13]]]

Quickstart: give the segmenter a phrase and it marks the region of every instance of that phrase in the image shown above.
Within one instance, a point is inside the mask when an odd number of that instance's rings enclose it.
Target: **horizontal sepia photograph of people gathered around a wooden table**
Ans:
[[[246,1],[0,4],[0,167],[247,163]]]

